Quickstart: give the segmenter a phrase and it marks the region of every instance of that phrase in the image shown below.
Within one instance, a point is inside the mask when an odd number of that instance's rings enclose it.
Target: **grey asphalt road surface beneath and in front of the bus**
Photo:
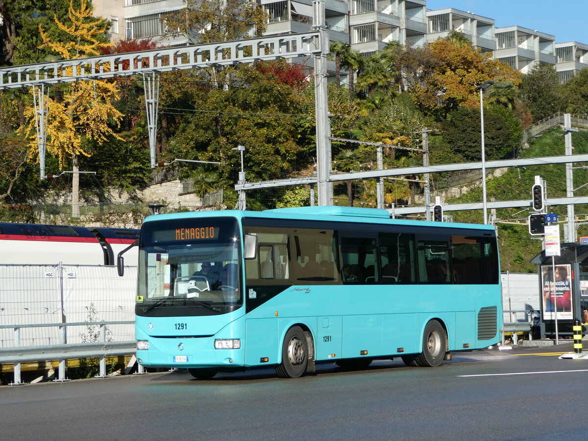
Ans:
[[[10,440],[585,440],[588,358],[550,348],[454,355],[439,368],[376,361],[193,379],[188,372],[0,386]]]

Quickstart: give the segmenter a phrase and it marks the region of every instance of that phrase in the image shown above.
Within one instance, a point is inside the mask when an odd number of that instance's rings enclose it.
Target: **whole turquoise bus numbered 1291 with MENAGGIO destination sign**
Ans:
[[[500,340],[492,226],[336,206],[205,211],[149,216],[138,245],[146,367],[299,377],[317,362],[439,366]]]

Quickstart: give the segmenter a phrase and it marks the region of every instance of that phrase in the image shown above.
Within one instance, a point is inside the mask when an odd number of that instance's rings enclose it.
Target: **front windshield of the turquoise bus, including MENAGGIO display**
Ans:
[[[136,314],[199,316],[243,304],[235,219],[147,222],[139,242]]]

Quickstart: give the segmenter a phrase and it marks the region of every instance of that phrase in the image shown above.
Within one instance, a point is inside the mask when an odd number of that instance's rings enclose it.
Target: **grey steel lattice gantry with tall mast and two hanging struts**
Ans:
[[[45,179],[46,130],[49,86],[57,83],[142,75],[149,133],[151,167],[157,166],[155,139],[159,103],[159,74],[180,69],[238,65],[257,61],[313,56],[315,61],[316,149],[319,201],[330,201],[330,124],[327,102],[326,57],[329,39],[324,0],[313,0],[314,32],[263,36],[239,41],[181,46],[166,49],[76,58],[65,61],[11,66],[0,69],[0,90],[32,87],[39,147],[41,179]]]

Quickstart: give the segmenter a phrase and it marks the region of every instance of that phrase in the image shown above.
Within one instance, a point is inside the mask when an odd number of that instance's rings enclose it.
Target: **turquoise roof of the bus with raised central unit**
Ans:
[[[492,225],[481,225],[477,223],[456,223],[456,222],[427,222],[426,220],[392,219],[390,213],[384,209],[377,208],[356,208],[343,206],[312,206],[295,208],[278,208],[265,211],[242,211],[242,210],[219,210],[219,211],[198,211],[182,212],[162,215],[151,215],[145,218],[144,222],[154,220],[171,220],[186,218],[208,218],[212,216],[229,216],[232,218],[275,218],[275,219],[299,219],[299,220],[329,220],[331,222],[363,222],[363,223],[385,223],[396,225],[429,225],[446,226],[453,228],[486,229],[494,230]]]

